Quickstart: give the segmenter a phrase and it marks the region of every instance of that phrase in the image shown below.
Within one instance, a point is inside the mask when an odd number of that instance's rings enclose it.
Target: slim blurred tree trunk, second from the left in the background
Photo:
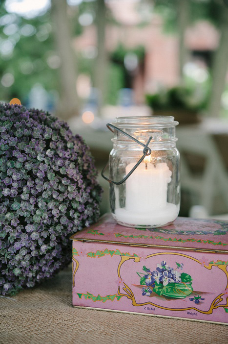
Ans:
[[[104,103],[107,75],[107,51],[105,47],[106,5],[104,0],[97,0],[96,27],[98,55],[94,68],[94,87],[98,90],[98,115]]]

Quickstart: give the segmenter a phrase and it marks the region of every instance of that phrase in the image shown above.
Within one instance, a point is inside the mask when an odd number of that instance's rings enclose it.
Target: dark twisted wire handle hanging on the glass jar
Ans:
[[[104,166],[104,169],[102,170],[102,176],[105,180],[107,180],[109,183],[112,183],[112,184],[115,184],[115,185],[120,185],[120,184],[123,184],[127,178],[129,178],[129,176],[137,169],[137,167],[139,166],[139,164],[141,164],[141,162],[144,160],[145,156],[146,155],[150,155],[151,154],[151,149],[150,147],[148,147],[150,141],[152,140],[152,136],[149,138],[149,140],[146,142],[146,144],[144,145],[142,142],[140,142],[139,140],[135,139],[133,136],[125,133],[123,130],[121,130],[120,128],[116,127],[115,125],[112,125],[110,123],[107,123],[106,126],[108,127],[109,130],[111,130],[112,132],[114,132],[114,130],[112,129],[115,129],[117,131],[119,131],[120,133],[124,134],[125,136],[127,136],[129,139],[135,141],[137,144],[141,145],[144,147],[143,149],[143,156],[139,159],[139,161],[135,164],[135,166],[131,169],[131,171],[124,177],[124,179],[122,179],[121,181],[119,182],[115,182],[107,177],[105,177],[104,175],[104,171],[106,170],[107,166],[108,166],[108,163],[106,164],[106,166]]]

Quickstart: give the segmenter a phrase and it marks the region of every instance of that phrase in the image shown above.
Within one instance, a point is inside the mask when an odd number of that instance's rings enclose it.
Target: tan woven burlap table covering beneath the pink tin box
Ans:
[[[68,268],[39,287],[0,297],[0,343],[228,343],[226,325],[72,308],[71,276]]]

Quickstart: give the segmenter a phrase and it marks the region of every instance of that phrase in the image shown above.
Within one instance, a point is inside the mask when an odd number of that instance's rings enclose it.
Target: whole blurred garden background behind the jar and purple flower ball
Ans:
[[[0,101],[11,98],[67,121],[99,171],[106,123],[174,116],[180,215],[228,220],[228,0],[0,1]]]

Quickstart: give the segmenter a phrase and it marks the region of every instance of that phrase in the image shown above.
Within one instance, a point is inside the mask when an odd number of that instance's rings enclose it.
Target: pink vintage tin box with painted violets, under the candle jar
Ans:
[[[228,222],[127,228],[111,215],[71,237],[73,306],[228,323]]]

